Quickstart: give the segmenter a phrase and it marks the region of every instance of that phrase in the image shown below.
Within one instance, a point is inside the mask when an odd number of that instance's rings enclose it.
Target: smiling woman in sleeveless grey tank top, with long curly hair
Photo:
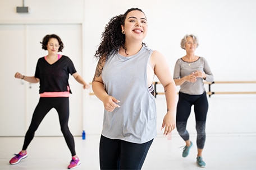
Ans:
[[[153,75],[164,87],[167,112],[163,135],[175,129],[176,87],[164,56],[143,43],[148,21],[131,8],[111,18],[95,53],[98,65],[92,88],[103,102],[100,169],[141,169],[157,136]]]

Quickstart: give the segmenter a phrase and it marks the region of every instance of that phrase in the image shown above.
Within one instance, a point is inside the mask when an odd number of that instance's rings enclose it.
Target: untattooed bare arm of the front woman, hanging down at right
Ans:
[[[163,135],[166,136],[176,126],[176,87],[173,81],[170,68],[164,56],[158,51],[154,51],[151,57],[151,63],[154,68],[159,81],[163,85],[164,94],[166,97],[167,113],[163,118],[162,129],[164,128]]]

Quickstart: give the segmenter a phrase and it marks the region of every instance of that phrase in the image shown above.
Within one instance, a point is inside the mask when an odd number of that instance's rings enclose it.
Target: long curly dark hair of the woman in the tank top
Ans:
[[[125,34],[122,34],[121,25],[125,25],[126,16],[131,11],[143,12],[139,8],[130,8],[123,15],[112,17],[105,26],[105,30],[102,32],[102,41],[94,54],[95,58],[107,60],[108,56],[116,53],[120,47],[126,50]],[[146,45],[145,43],[142,44]]]

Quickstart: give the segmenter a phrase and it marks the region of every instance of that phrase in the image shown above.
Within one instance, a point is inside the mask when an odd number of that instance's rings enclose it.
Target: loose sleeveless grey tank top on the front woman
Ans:
[[[140,51],[124,57],[109,56],[102,70],[108,95],[121,107],[104,110],[102,135],[132,143],[145,143],[157,136],[157,114],[154,96],[148,90],[147,64],[153,50],[143,45]]]

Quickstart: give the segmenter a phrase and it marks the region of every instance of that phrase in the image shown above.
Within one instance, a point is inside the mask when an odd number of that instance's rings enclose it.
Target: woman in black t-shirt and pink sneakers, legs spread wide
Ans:
[[[35,75],[28,77],[21,73],[15,73],[15,78],[24,79],[30,83],[40,83],[40,99],[35,108],[31,124],[25,135],[24,144],[19,154],[10,160],[10,164],[17,164],[28,155],[26,149],[34,138],[34,134],[44,116],[55,108],[58,112],[61,131],[70,149],[72,160],[68,169],[79,166],[80,160],[75,152],[74,137],[68,128],[69,95],[71,93],[68,83],[69,74],[73,75],[77,82],[83,84],[83,88],[89,88],[89,84],[76,72],[74,64],[68,56],[58,54],[63,49],[63,43],[57,35],[46,35],[43,38],[42,49],[48,50],[48,55],[38,59]]]

